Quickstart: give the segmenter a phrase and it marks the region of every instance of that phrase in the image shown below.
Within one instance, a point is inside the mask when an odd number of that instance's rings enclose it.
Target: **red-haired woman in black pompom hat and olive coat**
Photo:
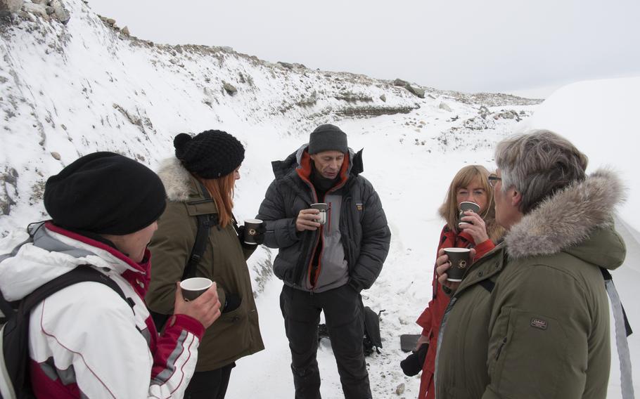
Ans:
[[[245,150],[231,134],[215,130],[193,137],[180,133],[174,147],[176,156],[158,172],[167,190],[167,209],[149,247],[154,262],[146,299],[153,312],[171,314],[175,282],[187,264],[193,268],[198,218],[206,216],[209,235],[195,276],[216,282],[222,315],[205,332],[184,397],[222,399],[236,360],[264,349],[246,263],[257,245],[244,243],[243,228],[232,214],[233,187]],[[255,235],[255,242],[260,244],[262,235]]]

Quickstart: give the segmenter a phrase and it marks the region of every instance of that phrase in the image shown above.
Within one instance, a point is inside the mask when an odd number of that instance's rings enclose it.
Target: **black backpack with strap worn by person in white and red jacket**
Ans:
[[[32,308],[60,289],[85,281],[105,284],[117,292],[124,301],[127,301],[124,292],[115,281],[90,266],[78,266],[70,272],[56,277],[35,289],[21,301],[8,302],[0,293],[0,310],[4,315],[4,320],[0,322],[1,399],[35,398],[29,376],[29,317]]]

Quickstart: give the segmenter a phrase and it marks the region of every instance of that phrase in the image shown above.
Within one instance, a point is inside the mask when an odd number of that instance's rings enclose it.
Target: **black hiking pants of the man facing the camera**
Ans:
[[[291,350],[296,399],[320,398],[316,352],[321,311],[324,311],[345,398],[371,398],[362,348],[364,313],[360,294],[346,284],[314,294],[285,285],[280,294],[280,308]]]

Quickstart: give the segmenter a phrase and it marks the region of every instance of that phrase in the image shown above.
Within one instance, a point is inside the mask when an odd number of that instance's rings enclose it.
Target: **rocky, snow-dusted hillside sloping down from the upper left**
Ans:
[[[282,143],[295,147],[314,125],[343,118],[436,110],[435,117],[456,118],[449,129],[482,104],[535,103],[424,94],[414,85],[425,96],[419,98],[389,81],[274,65],[230,48],[155,45],[129,37],[83,1],[65,6],[67,25],[25,11],[0,23],[1,235],[20,225],[22,215],[41,217],[46,176],[94,150],[116,150],[153,166],[182,131],[227,129],[251,153],[264,148],[260,140],[292,138]],[[422,129],[432,126],[425,120]]]

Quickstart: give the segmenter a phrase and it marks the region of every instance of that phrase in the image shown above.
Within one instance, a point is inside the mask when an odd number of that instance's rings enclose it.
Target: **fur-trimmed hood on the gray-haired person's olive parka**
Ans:
[[[566,251],[599,266],[620,266],[615,263],[624,260],[625,244],[613,230],[613,213],[625,191],[613,171],[600,169],[557,192],[508,231],[508,256],[522,259]],[[615,259],[620,246],[622,259]]]

